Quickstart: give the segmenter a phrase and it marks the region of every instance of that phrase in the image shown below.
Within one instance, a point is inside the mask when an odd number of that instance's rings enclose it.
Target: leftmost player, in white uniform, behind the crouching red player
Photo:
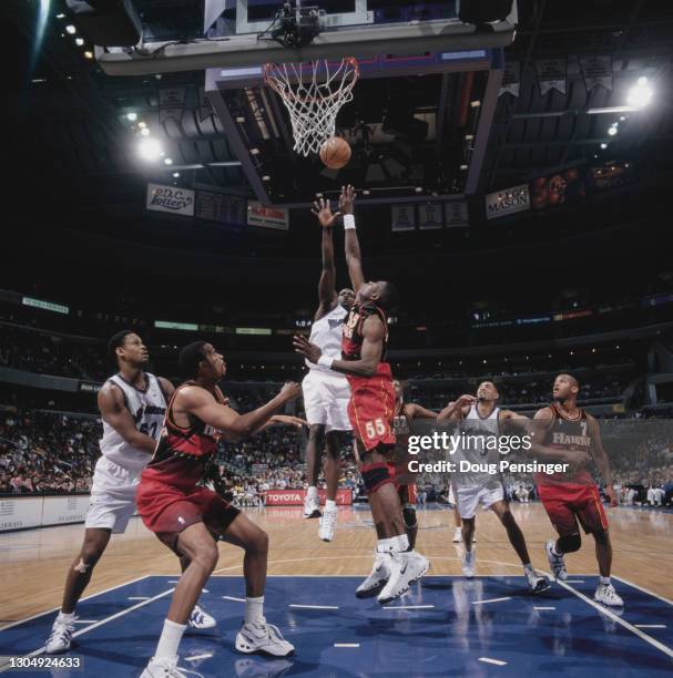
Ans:
[[[84,593],[93,567],[111,535],[125,532],[135,512],[140,474],[154,453],[173,384],[144,371],[149,353],[131,330],[114,335],[108,345],[119,373],[103,384],[98,405],[103,420],[101,456],[95,464],[84,542],[68,571],[63,603],[47,640],[48,654],[70,649],[75,606]],[[188,562],[182,562],[183,569]],[[190,618],[195,628],[212,628],[215,619],[195,607]]]

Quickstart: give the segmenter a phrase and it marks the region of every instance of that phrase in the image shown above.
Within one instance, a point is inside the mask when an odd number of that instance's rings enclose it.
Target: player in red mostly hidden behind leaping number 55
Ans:
[[[411,548],[416,547],[416,536],[418,534],[418,521],[416,517],[416,475],[410,473],[408,463],[411,459],[408,452],[409,435],[412,430],[412,422],[418,419],[426,421],[435,421],[441,423],[446,419],[448,408],[441,412],[432,412],[419,405],[416,402],[405,402],[405,388],[399,381],[392,381],[395,389],[395,451],[388,458],[388,468],[390,469],[390,477],[395,483],[395,487],[399,494],[399,501],[402,505],[402,518],[409,537]]]

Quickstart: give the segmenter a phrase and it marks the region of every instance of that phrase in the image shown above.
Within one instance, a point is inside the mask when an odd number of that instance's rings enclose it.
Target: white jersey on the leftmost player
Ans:
[[[144,391],[130,384],[121,374],[110,377],[108,381],[122,390],[124,404],[135,421],[135,428],[141,433],[159,440],[167,405],[159,379],[145,372]],[[108,461],[129,471],[142,471],[152,459],[151,454],[131,446],[105,420],[100,445],[101,454]]]

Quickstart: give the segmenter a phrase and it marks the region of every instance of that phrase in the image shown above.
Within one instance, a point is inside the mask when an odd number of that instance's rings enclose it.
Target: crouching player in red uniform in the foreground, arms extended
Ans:
[[[164,427],[152,461],[143,471],[137,510],[147,528],[177,555],[190,558],[171,602],[154,657],[143,678],[183,676],[177,667],[177,646],[206,579],[215,568],[217,540],[245,551],[245,620],[236,636],[241,653],[284,657],[294,651],[281,631],[263,614],[268,535],[215,492],[200,485],[213,463],[221,436],[252,435],[271,423],[303,423],[274,417],[300,393],[286,383],[265,405],[237,414],[225,404],[217,387],[226,364],[212,345],[196,341],[180,352],[180,367],[190,378],[169,404]]]

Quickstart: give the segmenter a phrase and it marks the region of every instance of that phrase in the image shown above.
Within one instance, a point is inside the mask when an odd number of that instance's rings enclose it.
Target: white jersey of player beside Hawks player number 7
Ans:
[[[460,462],[469,462],[470,464],[498,464],[500,454],[498,452],[497,440],[500,435],[498,415],[500,408],[494,408],[488,417],[481,417],[477,410],[477,405],[470,405],[470,409],[460,422],[460,433],[462,436],[461,444],[455,454],[455,460]],[[493,481],[499,483],[500,475],[497,473],[491,475],[488,471],[470,470],[460,471],[453,474],[453,481],[458,486],[475,486],[488,485]]]

